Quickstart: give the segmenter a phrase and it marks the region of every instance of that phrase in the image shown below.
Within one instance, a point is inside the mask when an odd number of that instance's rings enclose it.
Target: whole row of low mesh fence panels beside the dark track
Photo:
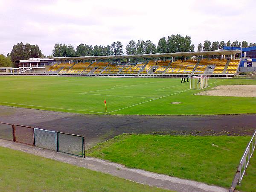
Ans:
[[[0,139],[85,157],[84,137],[0,122]]]

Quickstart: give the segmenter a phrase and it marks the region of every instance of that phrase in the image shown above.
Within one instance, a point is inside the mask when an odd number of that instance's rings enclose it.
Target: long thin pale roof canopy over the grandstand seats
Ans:
[[[167,58],[167,57],[191,57],[208,55],[234,55],[241,53],[240,50],[220,50],[220,51],[198,51],[198,52],[174,52],[174,53],[154,53],[143,55],[108,55],[108,56],[79,56],[79,57],[52,57],[57,61],[63,60],[93,60],[93,59],[146,59],[146,58]]]

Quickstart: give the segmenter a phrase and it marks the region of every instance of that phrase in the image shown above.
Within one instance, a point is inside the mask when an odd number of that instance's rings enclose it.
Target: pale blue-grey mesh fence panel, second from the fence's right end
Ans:
[[[35,146],[57,150],[56,132],[35,128]]]

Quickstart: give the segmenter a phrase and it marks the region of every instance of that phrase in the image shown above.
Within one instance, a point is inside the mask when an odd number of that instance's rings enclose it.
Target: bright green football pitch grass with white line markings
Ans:
[[[209,85],[215,81],[256,85],[250,79],[210,79]],[[175,78],[0,76],[0,87],[0,105],[50,111],[105,114],[106,99],[108,114],[256,113],[256,98],[194,95],[200,90]]]

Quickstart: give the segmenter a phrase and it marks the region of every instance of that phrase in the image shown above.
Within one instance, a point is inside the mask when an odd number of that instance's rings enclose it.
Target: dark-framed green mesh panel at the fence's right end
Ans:
[[[58,151],[84,156],[84,137],[72,134],[64,134],[57,132]]]

